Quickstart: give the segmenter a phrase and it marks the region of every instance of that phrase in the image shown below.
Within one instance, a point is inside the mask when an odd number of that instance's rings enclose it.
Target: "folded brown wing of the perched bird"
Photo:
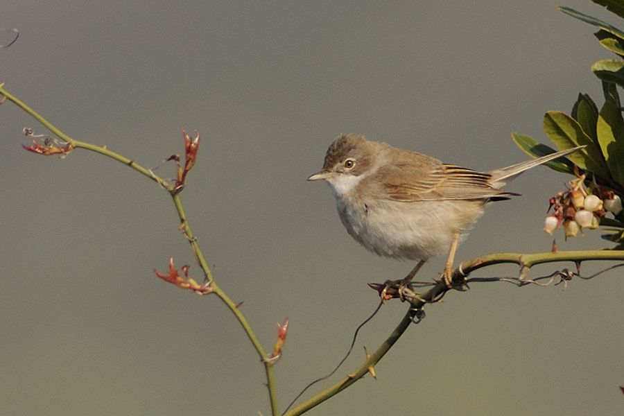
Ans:
[[[397,162],[380,168],[378,173],[388,199],[401,202],[502,200],[514,195],[492,187],[489,173],[442,164],[433,158],[423,162]]]

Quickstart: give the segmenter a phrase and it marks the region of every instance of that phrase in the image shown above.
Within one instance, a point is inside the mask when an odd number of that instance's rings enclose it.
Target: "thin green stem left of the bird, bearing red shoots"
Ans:
[[[252,328],[249,322],[245,319],[245,316],[243,315],[243,313],[241,313],[241,310],[239,309],[238,305],[232,302],[229,296],[227,296],[227,294],[214,281],[214,277],[212,275],[210,268],[208,267],[208,263],[204,257],[204,254],[202,253],[202,250],[200,249],[200,246],[197,243],[196,237],[193,235],[193,232],[191,231],[189,221],[187,220],[187,214],[184,212],[184,206],[182,205],[182,200],[180,199],[180,193],[179,193],[180,189],[176,189],[172,184],[162,179],[162,177],[155,175],[153,171],[151,171],[150,169],[137,164],[134,160],[128,159],[128,157],[119,155],[119,153],[114,153],[111,150],[108,150],[105,146],[96,146],[94,144],[90,144],[85,141],[78,141],[78,140],[72,139],[71,137],[66,135],[64,132],[62,132],[60,129],[58,129],[55,125],[47,121],[41,114],[35,112],[35,110],[33,110],[28,105],[26,105],[26,103],[19,100],[19,98],[17,98],[16,96],[13,96],[9,92],[7,92],[6,89],[3,88],[3,84],[1,83],[0,83],[0,94],[6,97],[6,99],[8,99],[9,101],[12,101],[12,103],[15,103],[15,105],[20,107],[26,113],[33,116],[34,119],[42,123],[42,125],[48,128],[51,132],[57,135],[60,139],[67,142],[72,148],[83,148],[85,150],[91,150],[92,152],[99,153],[106,157],[110,157],[111,159],[114,159],[117,162],[121,162],[125,164],[126,166],[130,166],[130,168],[135,169],[135,171],[138,171],[139,173],[145,175],[146,177],[149,177],[151,180],[154,180],[155,182],[160,184],[164,189],[168,191],[168,193],[171,195],[171,198],[173,198],[173,203],[175,205],[177,215],[180,218],[180,223],[181,223],[180,229],[182,230],[182,232],[184,232],[184,236],[187,237],[189,243],[191,243],[191,250],[193,250],[193,254],[195,254],[195,257],[200,267],[202,268],[202,271],[204,272],[206,281],[210,284],[211,288],[213,289],[213,293],[215,293],[218,296],[218,298],[221,301],[223,301],[223,303],[225,303],[227,308],[230,311],[232,311],[232,313],[234,313],[236,320],[239,321],[239,324],[241,324],[241,327],[243,327],[243,330],[245,331],[249,340],[254,346],[254,349],[256,349],[256,352],[260,356],[260,359],[266,371],[266,383],[268,387],[271,413],[273,416],[277,416],[279,414],[279,410],[277,408],[277,397],[276,397],[276,392],[275,392],[275,377],[273,375],[272,363],[266,361],[266,358],[268,358],[268,354],[263,349],[260,341],[258,340],[254,331],[252,331]]]

